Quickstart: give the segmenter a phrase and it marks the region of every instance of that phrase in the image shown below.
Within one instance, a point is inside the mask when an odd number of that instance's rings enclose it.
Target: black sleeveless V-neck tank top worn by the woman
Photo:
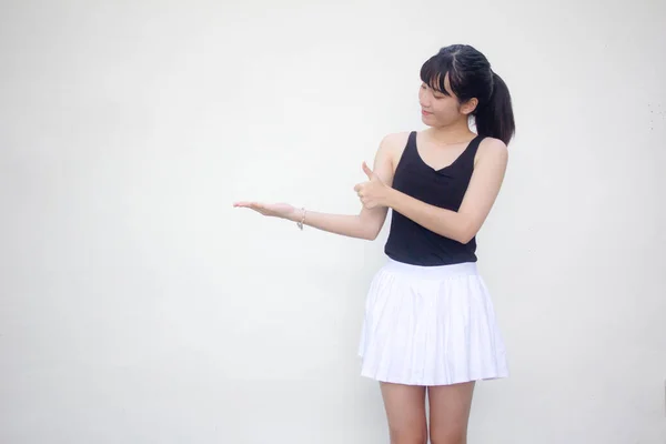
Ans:
[[[393,176],[393,188],[431,205],[457,211],[467,191],[474,157],[482,140],[483,137],[477,135],[452,164],[434,170],[416,151],[416,131],[411,132]],[[395,261],[413,265],[476,262],[476,239],[463,244],[392,211],[391,231],[384,252]]]

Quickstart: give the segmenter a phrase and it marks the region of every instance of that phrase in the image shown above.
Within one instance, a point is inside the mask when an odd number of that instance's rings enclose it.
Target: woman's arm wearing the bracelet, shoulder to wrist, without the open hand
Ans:
[[[393,183],[392,137],[386,137],[380,143],[375,154],[373,171],[382,181],[391,186]],[[386,220],[387,206],[377,206],[369,210],[362,206],[359,214],[330,214],[305,210],[304,225],[315,228],[334,234],[373,241],[382,231]],[[300,222],[303,210],[295,210],[287,216],[293,222]]]

